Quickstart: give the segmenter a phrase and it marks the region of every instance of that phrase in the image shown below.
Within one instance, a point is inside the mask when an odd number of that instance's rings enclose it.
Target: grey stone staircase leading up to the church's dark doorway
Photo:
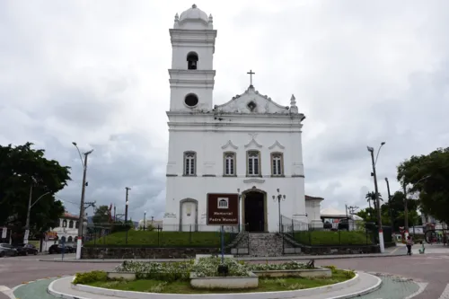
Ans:
[[[282,237],[277,233],[249,233],[250,256],[282,256]]]

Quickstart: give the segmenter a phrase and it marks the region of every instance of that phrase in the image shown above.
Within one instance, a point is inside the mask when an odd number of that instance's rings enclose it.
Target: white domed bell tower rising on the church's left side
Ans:
[[[216,76],[216,31],[212,22],[212,15],[207,17],[195,4],[174,17],[170,30],[170,111],[212,110]]]

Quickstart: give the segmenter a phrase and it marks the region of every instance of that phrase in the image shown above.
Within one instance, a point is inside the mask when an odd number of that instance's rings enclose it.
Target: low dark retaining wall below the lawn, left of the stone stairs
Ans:
[[[81,251],[82,259],[193,259],[197,254],[219,254],[219,249],[83,247]]]

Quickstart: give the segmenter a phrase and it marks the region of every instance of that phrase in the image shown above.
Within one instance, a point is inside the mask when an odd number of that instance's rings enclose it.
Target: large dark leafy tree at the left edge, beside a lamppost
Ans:
[[[55,227],[64,213],[54,195],[66,187],[70,171],[32,145],[0,145],[0,224],[23,232],[31,192],[30,229],[36,234]]]

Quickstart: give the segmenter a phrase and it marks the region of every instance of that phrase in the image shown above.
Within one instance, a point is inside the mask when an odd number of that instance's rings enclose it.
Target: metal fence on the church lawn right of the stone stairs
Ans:
[[[354,246],[375,244],[374,231],[364,222],[343,224],[339,229],[315,228],[313,225],[282,216],[281,233],[286,240],[291,239],[309,246]],[[293,246],[293,245],[292,245]]]

